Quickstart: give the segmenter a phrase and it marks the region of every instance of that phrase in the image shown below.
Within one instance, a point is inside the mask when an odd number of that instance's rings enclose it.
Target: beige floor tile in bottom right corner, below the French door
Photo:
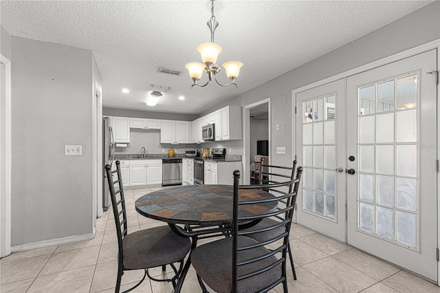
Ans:
[[[423,292],[423,293],[439,293],[440,287],[425,281],[418,276],[405,271],[400,271],[388,279],[382,281],[385,285],[402,293]]]

